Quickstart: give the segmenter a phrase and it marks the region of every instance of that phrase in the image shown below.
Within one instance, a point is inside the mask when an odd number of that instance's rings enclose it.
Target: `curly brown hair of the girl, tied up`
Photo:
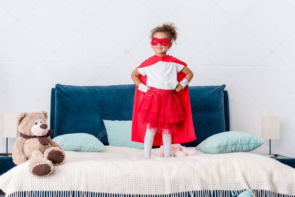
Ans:
[[[175,27],[174,23],[168,22],[163,23],[161,26],[155,27],[154,29],[150,30],[150,39],[153,38],[154,34],[157,32],[164,32],[167,34],[168,39],[171,42],[175,42],[177,38],[177,30],[178,28]]]

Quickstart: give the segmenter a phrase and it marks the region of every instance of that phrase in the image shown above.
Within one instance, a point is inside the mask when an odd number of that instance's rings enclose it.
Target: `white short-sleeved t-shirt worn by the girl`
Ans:
[[[184,65],[174,62],[158,61],[153,65],[137,68],[137,70],[142,76],[147,75],[147,86],[174,90],[178,84],[177,73],[183,67]]]

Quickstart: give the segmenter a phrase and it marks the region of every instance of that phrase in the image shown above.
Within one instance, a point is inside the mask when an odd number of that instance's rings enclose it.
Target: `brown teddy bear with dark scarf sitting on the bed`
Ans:
[[[17,116],[20,137],[12,148],[12,160],[19,165],[30,160],[29,170],[35,176],[53,172],[54,165],[65,162],[65,152],[49,136],[53,133],[47,126],[46,111],[21,113]]]

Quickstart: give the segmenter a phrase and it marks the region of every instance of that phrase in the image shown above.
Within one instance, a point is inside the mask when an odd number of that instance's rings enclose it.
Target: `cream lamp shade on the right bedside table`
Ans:
[[[280,138],[280,116],[261,116],[261,138]]]

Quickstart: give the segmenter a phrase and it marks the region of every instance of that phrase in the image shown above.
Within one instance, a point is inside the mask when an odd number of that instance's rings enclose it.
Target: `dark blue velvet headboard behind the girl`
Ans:
[[[228,93],[222,86],[189,86],[191,111],[197,139],[230,130]],[[105,120],[132,120],[135,84],[114,86],[67,86],[51,90],[50,129],[53,137],[89,133],[107,145]]]

